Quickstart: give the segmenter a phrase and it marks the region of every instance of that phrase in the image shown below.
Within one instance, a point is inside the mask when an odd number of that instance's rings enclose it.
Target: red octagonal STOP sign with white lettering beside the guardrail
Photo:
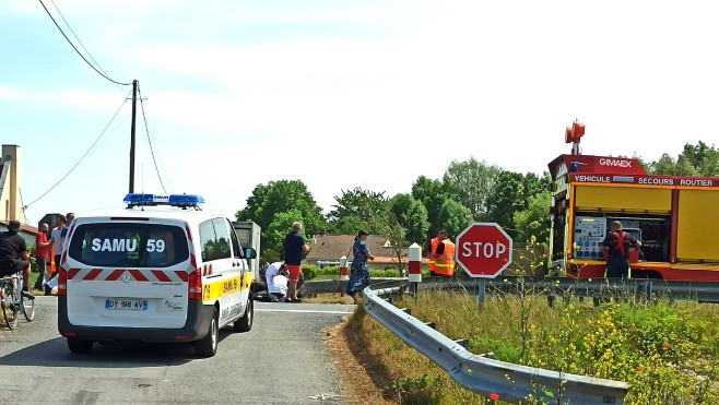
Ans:
[[[472,277],[494,278],[511,263],[511,238],[495,223],[474,223],[457,236],[455,254]]]

